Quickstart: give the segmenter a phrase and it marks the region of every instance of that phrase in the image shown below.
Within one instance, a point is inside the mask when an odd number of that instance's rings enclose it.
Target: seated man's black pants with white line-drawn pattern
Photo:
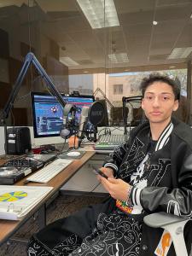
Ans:
[[[139,255],[142,223],[119,209],[111,213],[100,212],[99,206],[85,208],[49,224],[32,236],[27,255]]]

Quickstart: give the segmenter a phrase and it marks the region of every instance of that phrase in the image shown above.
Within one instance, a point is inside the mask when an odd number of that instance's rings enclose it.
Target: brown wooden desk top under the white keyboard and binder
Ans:
[[[74,160],[72,164],[67,166],[65,170],[60,172],[58,175],[53,177],[49,183],[28,183],[26,186],[49,186],[54,187],[54,189],[51,190],[49,195],[47,195],[43,201],[39,202],[36,207],[32,209],[31,212],[26,214],[24,218],[22,218],[19,221],[10,221],[10,220],[0,220],[0,245],[3,244],[4,241],[7,241],[10,236],[13,236],[15,232],[20,228],[21,225],[25,224],[26,221],[32,217],[32,215],[37,212],[42,207],[45,207],[46,201],[48,201],[51,197],[55,195],[55,193],[61,188],[61,186],[67,182],[67,180],[75,174],[81,168],[84,166],[84,164],[90,160],[90,158],[95,154],[95,152],[86,152],[83,157],[79,160]],[[26,177],[20,180],[20,182],[15,183],[17,186],[23,186],[24,182],[26,180]]]

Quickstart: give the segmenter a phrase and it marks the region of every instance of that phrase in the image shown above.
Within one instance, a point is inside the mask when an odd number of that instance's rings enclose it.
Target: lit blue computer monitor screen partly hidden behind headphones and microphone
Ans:
[[[82,107],[90,106],[94,102],[94,96],[62,96],[65,102],[76,106],[75,125],[78,126]],[[34,137],[60,135],[63,110],[55,96],[32,92],[32,117]]]

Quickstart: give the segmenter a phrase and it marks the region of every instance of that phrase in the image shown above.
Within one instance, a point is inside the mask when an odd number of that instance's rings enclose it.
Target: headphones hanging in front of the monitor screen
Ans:
[[[66,104],[63,110],[63,124],[60,131],[60,136],[64,139],[73,135],[75,129],[75,113],[75,106],[73,104]]]

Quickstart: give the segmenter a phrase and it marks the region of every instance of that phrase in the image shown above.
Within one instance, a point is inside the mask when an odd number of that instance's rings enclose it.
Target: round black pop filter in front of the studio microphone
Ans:
[[[101,102],[93,102],[90,106],[89,120],[94,126],[100,124],[105,116],[105,108]]]

